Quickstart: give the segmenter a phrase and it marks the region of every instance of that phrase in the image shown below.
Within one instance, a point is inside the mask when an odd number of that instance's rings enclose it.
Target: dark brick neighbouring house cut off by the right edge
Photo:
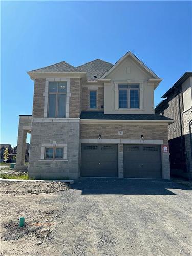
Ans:
[[[185,72],[162,98],[155,112],[175,120],[168,126],[171,173],[192,179],[192,72]]]

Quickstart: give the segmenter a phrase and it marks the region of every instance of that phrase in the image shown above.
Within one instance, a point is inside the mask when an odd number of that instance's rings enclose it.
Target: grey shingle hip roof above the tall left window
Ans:
[[[62,61],[44,68],[35,69],[31,71],[41,71],[41,72],[79,72],[78,69],[70,65],[69,63]]]

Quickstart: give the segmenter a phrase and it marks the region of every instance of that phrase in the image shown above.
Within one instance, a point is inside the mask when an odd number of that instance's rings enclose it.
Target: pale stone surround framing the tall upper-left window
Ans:
[[[67,82],[66,89],[66,117],[62,119],[69,118],[69,99],[71,97],[70,93],[70,78],[46,78],[45,92],[44,92],[44,117],[48,115],[48,98],[49,98],[49,81],[51,82]],[[60,117],[57,117],[61,119]]]

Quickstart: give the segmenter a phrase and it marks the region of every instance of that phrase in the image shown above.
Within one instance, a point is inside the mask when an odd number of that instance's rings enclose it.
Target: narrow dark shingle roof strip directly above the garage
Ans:
[[[82,111],[80,119],[103,120],[173,120],[158,114],[104,114],[103,111]]]

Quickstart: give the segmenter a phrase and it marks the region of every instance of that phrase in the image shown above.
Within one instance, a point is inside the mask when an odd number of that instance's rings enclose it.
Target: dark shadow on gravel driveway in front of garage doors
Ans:
[[[176,195],[169,189],[191,190],[170,180],[120,178],[79,178],[71,188],[82,195]]]

